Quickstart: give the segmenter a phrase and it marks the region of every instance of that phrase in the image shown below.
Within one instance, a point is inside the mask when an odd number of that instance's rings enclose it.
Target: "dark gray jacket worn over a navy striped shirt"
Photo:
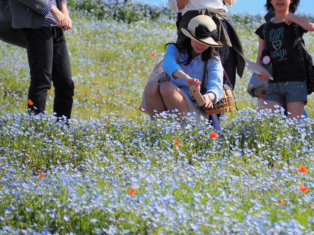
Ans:
[[[12,12],[12,27],[14,29],[39,29],[45,22],[41,14],[48,2],[46,0],[9,0]],[[56,0],[60,10],[60,2]]]

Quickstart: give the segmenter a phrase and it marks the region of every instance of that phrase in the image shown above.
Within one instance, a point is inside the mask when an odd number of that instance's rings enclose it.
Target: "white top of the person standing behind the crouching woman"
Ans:
[[[182,15],[187,11],[192,10],[219,10],[222,9],[225,12],[228,12],[227,7],[232,7],[236,4],[237,0],[231,0],[231,6],[223,0],[188,0],[184,8],[178,9],[176,0],[168,0],[169,7],[174,12],[182,12]]]

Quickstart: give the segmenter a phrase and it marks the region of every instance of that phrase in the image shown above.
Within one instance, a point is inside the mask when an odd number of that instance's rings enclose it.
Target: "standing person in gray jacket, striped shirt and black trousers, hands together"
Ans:
[[[64,31],[72,28],[66,0],[10,0],[12,27],[21,29],[30,66],[28,110],[44,113],[55,90],[53,112],[71,117],[74,83]]]

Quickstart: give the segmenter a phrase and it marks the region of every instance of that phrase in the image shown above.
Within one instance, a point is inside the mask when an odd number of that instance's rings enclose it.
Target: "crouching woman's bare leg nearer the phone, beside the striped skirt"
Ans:
[[[179,115],[179,113],[185,113],[187,116],[188,110],[185,102],[186,94],[184,91],[172,82],[164,82],[160,85],[160,94],[169,112],[177,109],[179,111],[176,112],[176,114]]]

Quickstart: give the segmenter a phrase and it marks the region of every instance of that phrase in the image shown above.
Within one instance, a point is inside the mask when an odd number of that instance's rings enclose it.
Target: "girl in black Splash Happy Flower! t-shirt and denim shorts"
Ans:
[[[287,105],[288,118],[301,119],[304,106],[307,103],[305,68],[301,63],[298,52],[292,46],[296,39],[295,31],[301,35],[314,31],[314,24],[296,16],[295,11],[300,0],[267,0],[268,11],[275,12],[271,22],[263,24],[256,30],[259,36],[257,64],[272,63],[273,81],[268,81],[268,90],[264,101],[265,108],[273,109],[279,105]],[[267,56],[262,58],[263,50]],[[261,80],[268,80],[265,73],[257,75]]]

